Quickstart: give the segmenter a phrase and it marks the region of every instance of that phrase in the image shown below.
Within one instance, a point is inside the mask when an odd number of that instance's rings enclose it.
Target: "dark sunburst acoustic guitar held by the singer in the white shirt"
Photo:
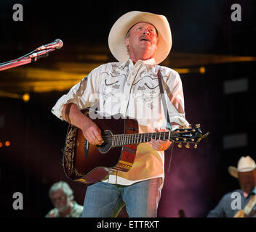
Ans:
[[[90,117],[90,110],[81,112]],[[97,112],[94,112],[94,115]],[[92,119],[92,117],[90,117]],[[170,140],[179,147],[190,144],[196,148],[203,135],[200,125],[196,128],[167,130],[164,132],[138,133],[137,120],[122,115],[102,117],[97,115],[92,119],[102,132],[103,144],[92,145],[84,138],[82,131],[74,125],[68,126],[63,152],[63,169],[65,175],[76,182],[96,183],[113,171],[127,172],[135,161],[137,145],[151,139]]]

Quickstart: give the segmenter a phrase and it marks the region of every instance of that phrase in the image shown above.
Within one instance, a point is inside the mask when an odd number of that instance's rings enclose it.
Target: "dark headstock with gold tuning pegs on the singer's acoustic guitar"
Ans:
[[[182,148],[182,144],[185,144],[186,148],[190,148],[190,144],[193,144],[193,147],[196,149],[197,144],[201,141],[202,138],[206,138],[209,135],[209,132],[203,134],[201,132],[200,124],[196,124],[195,128],[179,128],[173,130],[170,136],[170,140],[178,143],[178,147]]]

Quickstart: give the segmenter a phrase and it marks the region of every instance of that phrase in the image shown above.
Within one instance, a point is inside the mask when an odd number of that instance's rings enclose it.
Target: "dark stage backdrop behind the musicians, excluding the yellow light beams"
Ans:
[[[23,5],[23,22],[12,20],[13,5]],[[232,4],[241,5],[241,22],[231,20]],[[164,14],[172,30],[169,67],[198,68],[206,72],[180,74],[183,80],[186,118],[201,124],[209,137],[198,149],[177,149],[172,154],[171,169],[166,170],[159,203],[159,217],[205,217],[228,191],[239,188],[228,174],[242,155],[255,159],[252,149],[255,124],[253,91],[255,62],[197,62],[193,56],[177,60],[175,54],[217,54],[256,57],[255,1],[1,1],[0,63],[15,59],[42,44],[63,40],[62,49],[37,62],[0,72],[0,91],[25,94],[17,83],[26,83],[19,73],[29,67],[51,70],[57,62],[87,62],[81,55],[94,48],[105,48],[108,62],[114,61],[108,51],[108,32],[122,14],[140,10]],[[81,49],[81,47],[83,49]],[[85,49],[84,49],[85,48]],[[186,57],[186,56],[185,56]],[[186,65],[185,65],[186,64]],[[191,64],[191,65],[189,65]],[[15,72],[14,70],[20,70]],[[50,78],[50,77],[49,77]],[[246,78],[247,91],[225,94],[227,80]],[[65,177],[61,166],[68,124],[52,115],[57,99],[68,91],[36,92],[30,101],[0,97],[0,141],[10,146],[0,148],[1,217],[41,218],[52,209],[49,187],[56,181],[67,181],[76,201],[83,204],[86,186]],[[247,135],[247,144],[225,149],[223,136]],[[234,141],[236,144],[236,141]],[[166,167],[170,152],[166,152]],[[23,210],[14,210],[15,192],[23,194]],[[122,210],[119,217],[126,217]]]

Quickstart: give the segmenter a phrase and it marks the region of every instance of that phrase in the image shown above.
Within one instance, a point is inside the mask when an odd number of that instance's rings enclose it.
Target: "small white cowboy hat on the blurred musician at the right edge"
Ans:
[[[241,157],[237,164],[237,168],[229,166],[228,173],[231,174],[234,178],[239,178],[239,172],[249,172],[255,170],[255,168],[255,161],[251,157]]]

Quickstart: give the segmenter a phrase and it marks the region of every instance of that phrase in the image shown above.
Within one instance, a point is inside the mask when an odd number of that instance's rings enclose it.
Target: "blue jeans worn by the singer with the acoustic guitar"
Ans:
[[[160,196],[161,178],[130,186],[97,182],[87,187],[82,217],[117,217],[125,205],[129,218],[156,218]]]

